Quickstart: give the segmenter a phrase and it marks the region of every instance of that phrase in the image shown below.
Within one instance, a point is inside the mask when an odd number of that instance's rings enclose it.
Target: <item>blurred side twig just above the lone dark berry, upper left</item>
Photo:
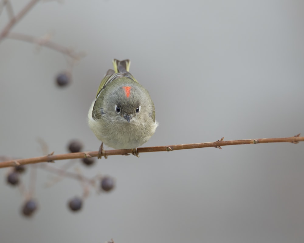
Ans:
[[[12,32],[8,33],[6,37],[9,39],[22,40],[29,43],[35,43],[39,46],[48,47],[52,50],[63,53],[75,60],[79,60],[81,57],[85,56],[84,53],[75,53],[73,50],[67,47],[61,46],[55,42],[50,41],[49,38],[43,38],[43,37],[37,38],[26,34],[12,33]]]

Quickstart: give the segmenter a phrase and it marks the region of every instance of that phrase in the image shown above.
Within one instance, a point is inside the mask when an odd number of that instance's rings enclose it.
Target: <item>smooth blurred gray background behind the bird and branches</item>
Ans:
[[[27,2],[12,1],[15,12]],[[0,154],[40,156],[38,137],[57,154],[73,138],[97,150],[87,111],[113,58],[132,60],[154,100],[160,125],[147,146],[304,135],[303,23],[304,2],[291,0],[39,3],[13,30],[53,31],[53,41],[87,56],[58,89],[60,53],[0,43]],[[39,170],[31,219],[1,169],[0,241],[303,242],[303,145],[111,156],[92,168],[75,161],[87,176],[116,178],[115,190],[92,190],[77,214],[67,200],[82,194],[78,181],[45,188],[50,174]]]

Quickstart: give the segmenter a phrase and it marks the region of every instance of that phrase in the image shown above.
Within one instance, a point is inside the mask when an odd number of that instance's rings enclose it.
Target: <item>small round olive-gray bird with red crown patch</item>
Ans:
[[[103,143],[114,149],[132,149],[147,142],[158,126],[149,92],[129,73],[130,60],[113,60],[98,87],[88,112],[88,125],[102,141],[98,158],[104,155]]]

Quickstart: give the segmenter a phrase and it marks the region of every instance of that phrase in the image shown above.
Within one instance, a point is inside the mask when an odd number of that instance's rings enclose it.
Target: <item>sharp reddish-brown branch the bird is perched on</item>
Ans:
[[[197,149],[197,148],[219,148],[221,146],[227,145],[241,145],[241,144],[258,144],[258,143],[270,143],[270,142],[291,142],[291,143],[299,143],[300,141],[304,141],[304,137],[300,137],[300,134],[295,135],[294,137],[289,138],[270,138],[270,139],[244,139],[244,140],[230,140],[223,141],[224,138],[216,141],[216,142],[203,142],[203,143],[191,143],[191,144],[179,144],[179,145],[170,145],[170,146],[155,146],[155,147],[143,147],[137,148],[138,153],[144,152],[160,152],[160,151],[173,151],[180,149]],[[132,149],[113,149],[106,150],[104,155],[127,155],[132,153]],[[61,159],[80,159],[86,157],[96,157],[98,156],[98,151],[94,152],[78,152],[78,153],[68,153],[68,154],[58,154],[53,155],[53,153],[29,159],[15,159],[0,162],[0,168],[10,167],[10,166],[18,166],[18,165],[26,165],[26,164],[35,164],[40,162],[51,162],[55,160]]]

